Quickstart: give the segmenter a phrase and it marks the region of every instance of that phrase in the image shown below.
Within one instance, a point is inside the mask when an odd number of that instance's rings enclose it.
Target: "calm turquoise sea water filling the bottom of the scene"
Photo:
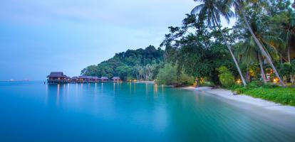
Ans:
[[[295,118],[145,83],[0,82],[0,141],[295,141]]]

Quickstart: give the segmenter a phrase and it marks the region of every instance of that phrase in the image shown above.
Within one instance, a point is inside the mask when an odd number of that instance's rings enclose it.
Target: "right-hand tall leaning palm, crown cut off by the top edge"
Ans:
[[[277,72],[276,67],[274,67],[274,63],[272,62],[269,55],[266,53],[266,50],[264,50],[262,43],[259,42],[259,39],[257,38],[255,33],[253,32],[253,30],[249,24],[249,21],[247,20],[247,16],[246,16],[246,13],[244,10],[244,4],[247,4],[247,0],[227,0],[227,4],[225,4],[225,5],[227,5],[229,7],[234,6],[234,9],[242,15],[242,20],[244,21],[248,31],[251,33],[252,37],[254,38],[254,42],[258,45],[259,50],[261,51],[262,55],[266,58],[267,62],[269,62],[269,65],[271,66],[271,69],[273,70],[276,77],[278,77],[279,83],[281,84],[281,86],[286,87],[286,84],[283,82],[283,80],[281,80],[281,77],[279,76],[279,73]]]

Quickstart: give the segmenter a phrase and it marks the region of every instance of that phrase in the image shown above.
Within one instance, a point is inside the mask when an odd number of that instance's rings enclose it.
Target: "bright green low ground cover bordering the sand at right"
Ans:
[[[247,94],[255,98],[265,99],[279,104],[295,106],[295,88],[294,87],[277,87],[273,84],[258,84],[254,82],[247,87],[234,86],[233,91],[238,94]]]

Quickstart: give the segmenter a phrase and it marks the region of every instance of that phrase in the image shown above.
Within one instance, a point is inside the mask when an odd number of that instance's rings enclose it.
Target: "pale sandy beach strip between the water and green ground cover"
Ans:
[[[295,107],[292,106],[286,106],[283,104],[277,104],[274,102],[269,102],[264,99],[260,98],[254,98],[245,94],[238,94],[233,95],[232,91],[227,89],[212,89],[211,87],[185,87],[187,89],[193,89],[200,92],[207,92],[209,94],[222,97],[224,99],[232,100],[235,102],[243,102],[245,104],[250,104],[255,107],[261,107],[264,109],[269,109],[272,111],[279,111],[284,114],[289,114],[292,116],[295,116]]]

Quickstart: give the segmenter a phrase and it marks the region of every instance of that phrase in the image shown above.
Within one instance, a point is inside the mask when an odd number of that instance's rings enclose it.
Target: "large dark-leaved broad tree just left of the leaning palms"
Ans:
[[[229,36],[229,29],[224,29],[224,35]],[[187,15],[180,28],[170,27],[161,45],[165,45],[168,62],[179,65],[187,75],[206,77],[213,84],[219,84],[217,68],[221,65],[237,70],[220,32],[210,30],[195,15]]]

